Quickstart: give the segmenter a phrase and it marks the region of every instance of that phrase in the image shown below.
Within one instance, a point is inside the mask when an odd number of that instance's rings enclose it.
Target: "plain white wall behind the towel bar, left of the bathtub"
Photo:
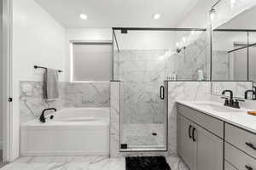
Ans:
[[[13,144],[12,158],[19,156],[19,82],[42,81],[43,71],[33,65],[65,71],[65,29],[34,0],[13,2]],[[64,76],[60,77],[61,80]]]

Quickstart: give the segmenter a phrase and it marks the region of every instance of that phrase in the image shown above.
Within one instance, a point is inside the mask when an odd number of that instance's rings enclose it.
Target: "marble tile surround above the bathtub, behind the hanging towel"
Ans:
[[[20,122],[41,115],[45,108],[109,107],[109,82],[60,82],[60,97],[54,101],[43,98],[43,82],[20,82]]]

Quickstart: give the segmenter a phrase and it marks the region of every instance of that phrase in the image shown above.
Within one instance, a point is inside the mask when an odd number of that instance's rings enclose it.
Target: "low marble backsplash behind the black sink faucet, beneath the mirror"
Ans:
[[[224,90],[232,90],[234,97],[244,99],[248,89],[253,89],[253,82],[212,82],[213,95],[222,95]]]

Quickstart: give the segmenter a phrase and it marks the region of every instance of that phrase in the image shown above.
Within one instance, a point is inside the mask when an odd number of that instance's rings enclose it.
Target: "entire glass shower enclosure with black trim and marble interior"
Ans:
[[[113,80],[121,82],[120,150],[165,151],[167,81],[197,80],[198,72],[207,80],[207,31],[113,28],[113,40]]]

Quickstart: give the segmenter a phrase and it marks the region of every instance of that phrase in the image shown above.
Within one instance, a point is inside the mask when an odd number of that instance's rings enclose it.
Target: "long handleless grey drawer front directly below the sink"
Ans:
[[[219,138],[224,138],[224,122],[181,104],[177,104],[177,112],[216,134]]]

